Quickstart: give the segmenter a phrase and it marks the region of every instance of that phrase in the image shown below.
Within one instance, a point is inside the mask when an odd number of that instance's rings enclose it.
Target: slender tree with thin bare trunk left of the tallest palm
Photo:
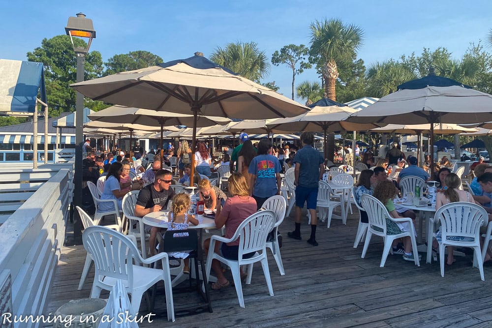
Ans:
[[[311,68],[311,64],[308,61],[305,61],[308,53],[309,49],[304,44],[299,46],[289,44],[282,47],[280,52],[277,50],[272,55],[272,63],[274,65],[278,66],[280,64],[285,64],[292,69],[292,100],[294,100],[294,82],[296,75],[301,74],[305,69]]]

